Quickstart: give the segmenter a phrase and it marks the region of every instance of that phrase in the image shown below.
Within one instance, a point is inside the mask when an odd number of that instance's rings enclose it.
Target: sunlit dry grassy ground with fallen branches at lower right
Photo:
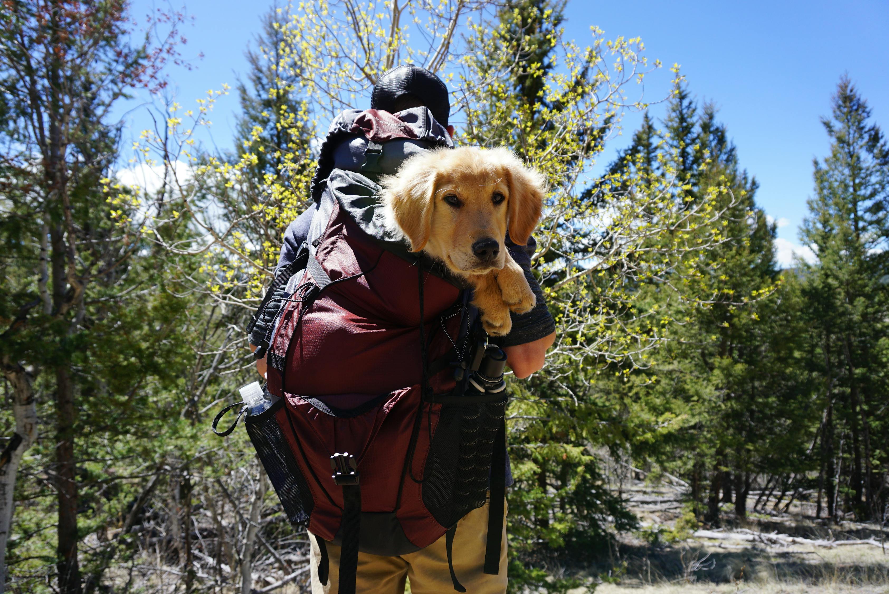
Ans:
[[[682,529],[688,512],[676,488],[641,480],[624,487],[641,529],[621,535],[610,558],[565,568],[595,585],[597,594],[889,594],[889,531],[877,524],[829,524],[813,518],[806,502],[787,513],[760,506],[738,521],[727,505],[722,526],[697,526],[720,536],[704,538],[695,526]],[[773,534],[786,535],[785,542]]]

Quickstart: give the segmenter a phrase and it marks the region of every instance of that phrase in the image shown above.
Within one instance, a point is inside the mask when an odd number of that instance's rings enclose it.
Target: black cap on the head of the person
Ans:
[[[447,125],[451,112],[447,86],[441,78],[413,64],[392,68],[373,85],[371,108],[401,111],[399,104],[412,100],[412,107],[425,106],[439,124]],[[410,102],[410,101],[409,101]]]

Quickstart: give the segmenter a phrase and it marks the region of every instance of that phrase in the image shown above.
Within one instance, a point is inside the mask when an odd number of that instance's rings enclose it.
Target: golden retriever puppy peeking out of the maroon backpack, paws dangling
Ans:
[[[525,245],[541,218],[546,182],[506,148],[442,148],[409,158],[382,180],[389,229],[475,287],[485,331],[509,333],[509,311],[536,301],[503,245]]]

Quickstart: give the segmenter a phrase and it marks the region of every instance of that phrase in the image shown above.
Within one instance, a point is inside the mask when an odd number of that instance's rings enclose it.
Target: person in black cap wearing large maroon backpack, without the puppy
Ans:
[[[506,238],[537,304],[492,344],[469,287],[388,237],[376,199],[381,175],[453,147],[449,112],[445,84],[407,65],[380,77],[370,109],[333,121],[314,203],[285,231],[248,325],[274,404],[244,422],[284,511],[308,529],[314,594],[401,594],[407,577],[414,593],[506,591],[496,374],[504,359],[519,379],[540,370],[555,340],[536,243]]]

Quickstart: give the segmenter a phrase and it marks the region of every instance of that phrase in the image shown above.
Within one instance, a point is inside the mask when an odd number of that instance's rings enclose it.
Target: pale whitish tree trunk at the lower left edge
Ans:
[[[37,409],[31,391],[31,376],[28,371],[12,361],[3,358],[3,373],[12,386],[12,414],[15,418],[15,433],[0,454],[0,594],[6,584],[6,542],[12,528],[15,477],[19,470],[22,454],[37,438]]]

